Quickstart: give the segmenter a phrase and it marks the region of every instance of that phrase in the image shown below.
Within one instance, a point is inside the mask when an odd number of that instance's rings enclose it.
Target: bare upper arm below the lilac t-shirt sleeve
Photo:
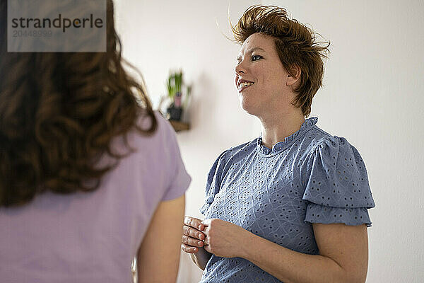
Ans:
[[[137,254],[139,282],[175,283],[185,197],[160,202]]]

